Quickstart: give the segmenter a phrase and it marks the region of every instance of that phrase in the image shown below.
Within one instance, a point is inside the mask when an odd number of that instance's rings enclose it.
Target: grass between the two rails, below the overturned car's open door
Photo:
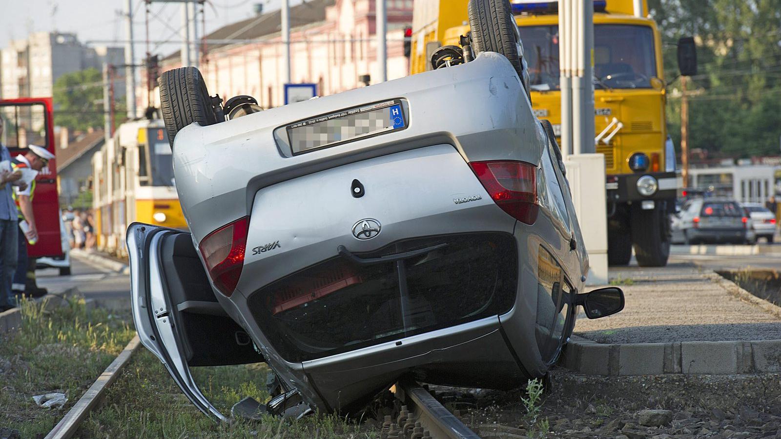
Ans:
[[[241,366],[193,367],[201,391],[223,415],[241,399],[266,402],[264,363]],[[217,423],[202,414],[182,394],[168,371],[151,352],[140,348],[109,388],[105,405],[93,412],[77,437],[379,437],[353,421],[334,415],[281,421],[266,416],[262,423],[237,420]]]

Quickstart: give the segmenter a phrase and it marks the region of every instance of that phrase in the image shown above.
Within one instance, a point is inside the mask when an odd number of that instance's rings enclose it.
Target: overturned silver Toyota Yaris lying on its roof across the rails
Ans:
[[[518,387],[578,306],[623,308],[618,288],[583,293],[552,127],[503,55],[262,112],[219,108],[187,67],[161,98],[189,230],[129,227],[134,322],[209,415],[190,366],[265,361],[270,412],[353,412],[408,373]]]

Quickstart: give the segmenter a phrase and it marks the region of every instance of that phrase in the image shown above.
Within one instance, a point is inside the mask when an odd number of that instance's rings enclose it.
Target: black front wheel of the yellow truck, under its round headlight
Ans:
[[[666,266],[670,255],[670,231],[664,205],[643,210],[640,203],[633,204],[630,223],[637,265]]]

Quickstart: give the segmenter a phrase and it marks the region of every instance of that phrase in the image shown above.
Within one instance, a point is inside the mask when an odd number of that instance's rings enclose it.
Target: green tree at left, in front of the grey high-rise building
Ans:
[[[99,70],[66,73],[55,80],[53,88],[55,125],[81,131],[103,127],[103,75]],[[115,98],[115,107],[119,123],[125,113],[123,100]]]

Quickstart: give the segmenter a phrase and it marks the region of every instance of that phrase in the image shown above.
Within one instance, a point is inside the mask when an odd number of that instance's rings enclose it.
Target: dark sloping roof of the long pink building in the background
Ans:
[[[300,5],[291,7],[291,29],[318,23],[326,20],[326,7],[336,3],[336,0],[305,0]],[[230,23],[206,35],[207,40],[253,40],[282,31],[282,16],[280,9],[253,16],[247,20]],[[213,50],[229,45],[207,43],[206,50]],[[164,59],[172,60],[180,57],[180,51],[173,52]]]

